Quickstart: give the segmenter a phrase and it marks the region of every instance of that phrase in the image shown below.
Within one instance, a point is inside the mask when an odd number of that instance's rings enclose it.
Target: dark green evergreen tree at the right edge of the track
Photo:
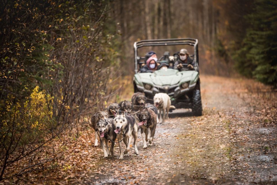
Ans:
[[[256,0],[254,11],[246,18],[251,27],[237,52],[236,67],[243,75],[276,87],[277,1]]]

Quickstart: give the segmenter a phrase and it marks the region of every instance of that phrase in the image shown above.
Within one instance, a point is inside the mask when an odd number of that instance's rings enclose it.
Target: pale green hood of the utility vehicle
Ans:
[[[136,84],[150,84],[152,86],[175,85],[183,82],[195,81],[198,75],[197,71],[181,71],[176,69],[157,70],[154,73],[137,73],[135,74]]]

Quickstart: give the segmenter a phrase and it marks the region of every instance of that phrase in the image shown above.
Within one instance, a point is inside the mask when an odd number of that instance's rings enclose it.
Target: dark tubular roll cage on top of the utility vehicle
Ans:
[[[155,39],[140,40],[134,43],[135,73],[137,73],[137,60],[143,59],[137,56],[137,49],[147,46],[170,46],[170,45],[191,45],[194,47],[194,61],[199,66],[198,59],[198,40],[194,38],[172,38],[172,39]]]

